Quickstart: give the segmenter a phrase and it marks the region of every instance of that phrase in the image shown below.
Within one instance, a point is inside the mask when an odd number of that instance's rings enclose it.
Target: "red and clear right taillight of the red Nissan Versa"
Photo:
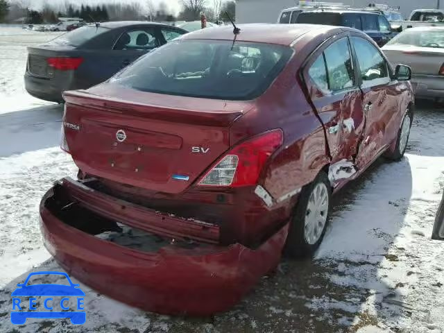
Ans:
[[[201,178],[203,186],[256,185],[268,157],[282,146],[282,130],[272,130],[235,146]]]

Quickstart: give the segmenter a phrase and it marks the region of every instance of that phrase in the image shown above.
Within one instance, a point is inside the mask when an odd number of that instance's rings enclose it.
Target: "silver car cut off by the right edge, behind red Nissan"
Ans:
[[[411,67],[416,97],[444,99],[444,27],[409,28],[382,51],[392,65]]]

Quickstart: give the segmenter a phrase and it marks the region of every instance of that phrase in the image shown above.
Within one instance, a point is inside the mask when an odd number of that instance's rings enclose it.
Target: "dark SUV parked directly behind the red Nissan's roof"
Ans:
[[[397,35],[392,30],[386,17],[375,12],[316,10],[313,12],[301,12],[296,18],[296,23],[319,24],[319,22],[330,26],[348,26],[364,31],[379,46],[383,46]]]

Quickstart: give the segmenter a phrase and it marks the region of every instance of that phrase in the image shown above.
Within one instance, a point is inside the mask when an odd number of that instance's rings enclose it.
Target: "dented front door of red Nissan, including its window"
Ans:
[[[398,133],[393,127],[398,123],[398,96],[394,89],[397,83],[391,80],[388,64],[379,49],[358,35],[351,35],[350,40],[356,54],[363,94],[361,109],[366,119],[356,160],[357,166],[363,168],[391,143],[390,134]]]

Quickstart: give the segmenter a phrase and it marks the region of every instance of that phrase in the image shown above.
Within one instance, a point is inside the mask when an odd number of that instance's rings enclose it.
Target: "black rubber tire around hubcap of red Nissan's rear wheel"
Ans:
[[[324,184],[327,190],[328,204],[327,204],[327,219],[325,221],[321,236],[318,238],[314,244],[307,241],[305,237],[305,218],[307,214],[307,208],[309,205],[309,199],[311,194],[316,189],[318,184]],[[327,230],[327,225],[330,219],[330,211],[332,205],[332,187],[330,185],[330,180],[327,174],[323,171],[318,174],[318,176],[309,185],[302,188],[300,192],[298,203],[296,204],[293,216],[290,221],[289,235],[284,247],[284,255],[287,257],[300,258],[300,257],[310,257],[318,249],[319,245],[325,235],[325,230]]]

